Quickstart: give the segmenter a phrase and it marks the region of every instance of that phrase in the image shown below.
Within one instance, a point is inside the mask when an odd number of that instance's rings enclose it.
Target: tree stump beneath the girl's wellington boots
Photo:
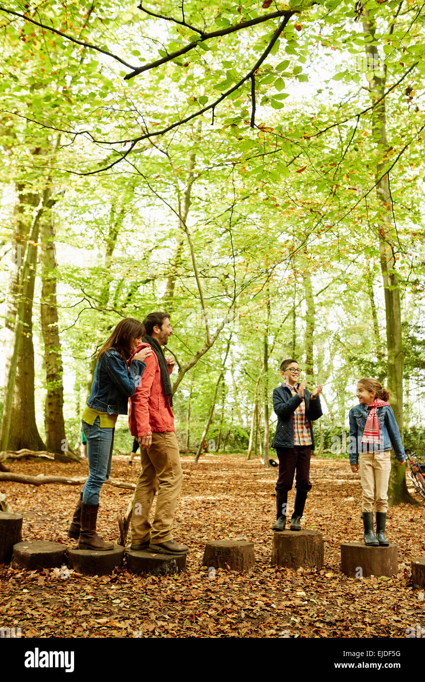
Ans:
[[[342,542],[341,570],[349,578],[397,575],[397,545],[366,547],[363,542]]]

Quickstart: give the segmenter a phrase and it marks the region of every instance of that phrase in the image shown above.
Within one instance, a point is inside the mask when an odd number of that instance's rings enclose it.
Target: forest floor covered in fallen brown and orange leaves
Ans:
[[[182,456],[183,487],[175,537],[190,547],[186,573],[144,577],[125,567],[113,576],[67,580],[53,569],[25,572],[0,567],[0,627],[21,627],[24,637],[396,637],[425,626],[424,593],[410,582],[412,557],[425,554],[425,507],[399,505],[388,512],[387,536],[398,544],[396,578],[347,578],[340,571],[340,543],[362,540],[361,486],[344,460],[312,459],[313,484],[303,527],[323,533],[323,569],[272,567],[274,486],[277,470],[258,459]],[[135,482],[140,467],[114,456],[111,476]],[[14,462],[29,475],[87,475],[80,464]],[[14,512],[24,514],[23,539],[76,546],[66,531],[80,486],[5,483]],[[117,542],[117,514],[131,490],[104,486],[98,528]],[[293,508],[293,491],[289,509]],[[130,537],[130,533],[129,533]],[[247,574],[202,567],[205,543],[249,539],[255,567]]]

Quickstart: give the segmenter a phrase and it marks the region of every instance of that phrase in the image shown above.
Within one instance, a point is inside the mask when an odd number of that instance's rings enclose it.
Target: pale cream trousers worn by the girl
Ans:
[[[362,511],[387,511],[390,481],[390,450],[362,452],[359,455],[362,481]]]

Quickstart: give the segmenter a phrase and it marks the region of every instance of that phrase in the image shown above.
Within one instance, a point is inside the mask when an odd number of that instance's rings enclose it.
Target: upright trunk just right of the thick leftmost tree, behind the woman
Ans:
[[[44,425],[46,449],[60,453],[69,450],[65,439],[63,421],[63,366],[56,305],[56,253],[55,231],[52,220],[45,220],[41,228],[42,305],[41,322],[44,339],[44,366],[46,368],[46,405]]]

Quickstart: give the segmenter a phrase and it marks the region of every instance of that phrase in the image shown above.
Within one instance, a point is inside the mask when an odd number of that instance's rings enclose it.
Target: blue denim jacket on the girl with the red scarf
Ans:
[[[349,458],[350,464],[359,463],[359,452],[367,452],[370,443],[362,443],[364,427],[368,418],[368,410],[363,404],[355,405],[349,412],[350,439]],[[396,417],[390,405],[384,405],[377,409],[379,421],[379,443],[375,443],[375,452],[385,452],[394,449],[399,462],[407,459],[405,448],[402,445],[400,431],[398,430]]]

